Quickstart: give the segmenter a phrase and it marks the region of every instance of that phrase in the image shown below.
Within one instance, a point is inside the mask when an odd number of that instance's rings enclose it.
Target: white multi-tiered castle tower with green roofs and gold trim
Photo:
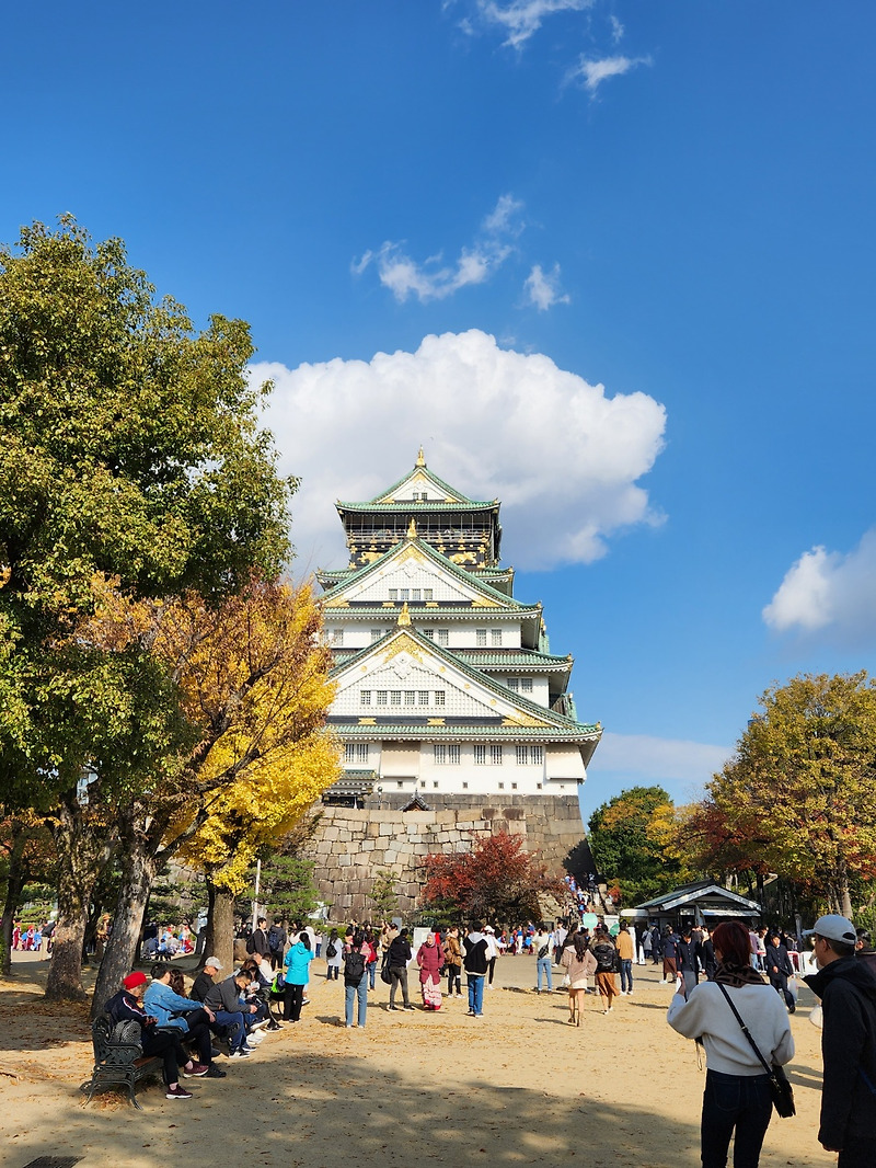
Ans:
[[[319,579],[345,777],[325,801],[577,805],[602,728],[578,722],[541,604],[514,597],[499,500],[468,499],[420,450],[375,499],[336,507],[349,564]]]

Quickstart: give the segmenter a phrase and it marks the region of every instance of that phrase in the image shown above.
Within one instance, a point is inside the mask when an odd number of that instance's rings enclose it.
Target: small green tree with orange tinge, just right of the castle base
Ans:
[[[655,816],[670,805],[662,787],[630,787],[590,816],[588,839],[599,874],[617,883],[625,903],[648,899],[679,878],[679,863],[653,833]]]

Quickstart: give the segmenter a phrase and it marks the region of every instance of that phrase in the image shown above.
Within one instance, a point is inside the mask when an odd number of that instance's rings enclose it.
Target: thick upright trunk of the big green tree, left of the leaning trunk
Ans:
[[[53,834],[58,854],[58,915],[46,996],[56,1002],[84,1001],[88,995],[82,985],[82,947],[89,902],[116,839],[104,825],[85,818],[72,792],[63,798]]]

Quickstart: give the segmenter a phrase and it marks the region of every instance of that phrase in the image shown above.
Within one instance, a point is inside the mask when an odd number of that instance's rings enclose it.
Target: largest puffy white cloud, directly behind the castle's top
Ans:
[[[292,535],[304,566],[345,562],[334,500],[373,498],[420,443],[443,479],[502,501],[505,561],[520,568],[597,559],[612,533],[661,521],[638,480],[662,450],[663,406],[609,397],[478,329],[371,361],[259,363],[251,376],[274,380],[266,423],[284,473],[303,478]]]

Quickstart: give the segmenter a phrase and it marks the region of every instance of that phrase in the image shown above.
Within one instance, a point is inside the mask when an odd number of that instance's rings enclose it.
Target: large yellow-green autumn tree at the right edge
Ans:
[[[850,916],[854,880],[876,876],[876,682],[798,676],[760,707],[700,814],[750,865],[808,882]]]

